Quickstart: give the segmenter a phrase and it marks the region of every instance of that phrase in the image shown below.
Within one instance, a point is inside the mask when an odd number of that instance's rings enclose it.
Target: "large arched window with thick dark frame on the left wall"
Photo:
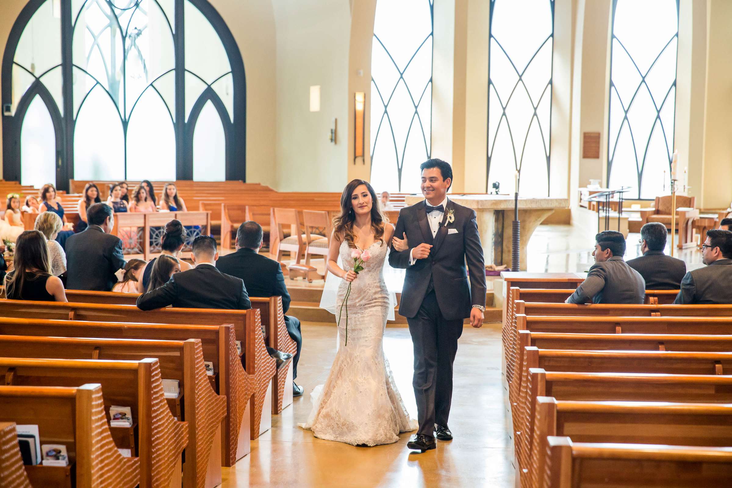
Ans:
[[[244,64],[205,0],[31,0],[2,70],[5,179],[245,179]]]

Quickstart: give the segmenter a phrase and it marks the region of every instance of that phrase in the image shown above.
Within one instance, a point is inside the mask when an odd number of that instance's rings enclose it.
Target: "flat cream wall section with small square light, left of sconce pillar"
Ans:
[[[337,192],[348,167],[347,1],[273,0],[277,31],[277,189]],[[321,87],[310,112],[310,86]],[[329,129],[337,119],[336,143]]]

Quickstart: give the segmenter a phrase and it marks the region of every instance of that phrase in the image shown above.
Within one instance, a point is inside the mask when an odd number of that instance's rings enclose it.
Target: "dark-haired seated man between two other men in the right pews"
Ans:
[[[646,280],[646,290],[678,290],[686,274],[686,263],[663,254],[668,230],[660,222],[649,222],[641,228],[639,258],[627,261],[628,266]]]

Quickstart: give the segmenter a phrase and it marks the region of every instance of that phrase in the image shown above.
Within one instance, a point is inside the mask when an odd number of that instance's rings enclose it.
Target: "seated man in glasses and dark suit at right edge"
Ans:
[[[673,303],[732,304],[732,232],[707,230],[701,260],[706,266],[686,274]]]

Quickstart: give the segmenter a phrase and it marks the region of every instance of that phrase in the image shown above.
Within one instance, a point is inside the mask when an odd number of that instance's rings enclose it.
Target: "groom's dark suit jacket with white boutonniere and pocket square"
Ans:
[[[447,222],[450,211],[454,211],[455,221]],[[455,232],[457,230],[457,232]],[[485,264],[483,248],[480,245],[475,211],[452,200],[447,200],[447,208],[437,231],[432,237],[427,222],[425,201],[405,207],[399,212],[395,236],[402,239],[407,234],[409,249],[397,251],[392,247],[389,264],[392,268],[406,269],[399,313],[406,318],[414,318],[427,295],[430,279],[433,282],[437,303],[442,316],[447,320],[470,317],[473,305],[485,307]],[[430,255],[409,265],[411,249],[426,242],[432,244]],[[470,285],[468,273],[470,270]]]

